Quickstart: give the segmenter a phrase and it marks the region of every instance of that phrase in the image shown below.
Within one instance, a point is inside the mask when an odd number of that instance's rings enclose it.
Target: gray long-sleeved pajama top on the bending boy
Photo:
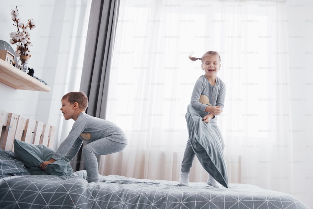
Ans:
[[[110,140],[127,144],[125,133],[120,127],[108,120],[96,118],[82,112],[78,115],[69,135],[61,143],[52,158],[60,160],[66,155],[69,160],[72,160],[84,140],[93,142],[112,135],[115,137],[110,137]]]

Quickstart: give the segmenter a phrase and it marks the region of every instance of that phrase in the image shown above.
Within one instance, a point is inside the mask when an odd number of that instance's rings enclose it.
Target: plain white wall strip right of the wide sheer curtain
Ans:
[[[313,208],[313,1],[287,0],[294,190]]]

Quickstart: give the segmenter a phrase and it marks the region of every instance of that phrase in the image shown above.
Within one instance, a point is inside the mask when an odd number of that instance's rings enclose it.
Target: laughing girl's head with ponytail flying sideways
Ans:
[[[221,68],[221,57],[215,51],[208,51],[201,58],[192,57],[189,55],[189,59],[192,61],[196,61],[198,59],[201,60],[202,65],[201,68],[205,72],[205,76],[207,78],[215,79],[217,77],[217,72]]]

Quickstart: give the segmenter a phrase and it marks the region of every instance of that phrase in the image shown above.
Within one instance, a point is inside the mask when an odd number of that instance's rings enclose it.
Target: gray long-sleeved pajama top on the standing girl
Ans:
[[[220,108],[223,109],[225,96],[225,83],[220,78],[216,77],[215,86],[213,86],[205,75],[202,75],[194,85],[190,105],[204,117],[209,114],[205,112],[207,106],[221,106]],[[212,118],[210,123],[217,123],[217,117]]]

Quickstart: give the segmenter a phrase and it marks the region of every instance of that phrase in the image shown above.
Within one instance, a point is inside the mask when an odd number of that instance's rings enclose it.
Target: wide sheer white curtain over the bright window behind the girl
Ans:
[[[288,191],[292,139],[285,3],[121,0],[107,120],[129,145],[100,173],[178,181],[184,118],[201,57],[218,51],[227,96],[218,124],[231,183]],[[190,181],[207,179],[195,159]]]

